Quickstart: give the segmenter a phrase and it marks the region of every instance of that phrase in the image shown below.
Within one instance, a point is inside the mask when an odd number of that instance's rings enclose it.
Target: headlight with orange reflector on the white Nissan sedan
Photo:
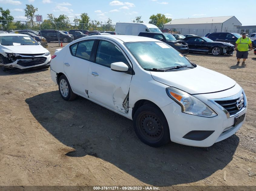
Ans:
[[[183,113],[202,117],[217,116],[217,114],[205,103],[184,91],[181,91],[177,88],[169,87],[166,88],[166,93],[171,99],[173,99],[181,106],[181,110]]]

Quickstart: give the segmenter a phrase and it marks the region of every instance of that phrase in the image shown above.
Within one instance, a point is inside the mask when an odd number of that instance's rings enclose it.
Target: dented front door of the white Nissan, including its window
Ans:
[[[116,43],[100,40],[95,62],[90,64],[88,71],[88,96],[114,110],[127,113],[132,75],[112,71],[110,65],[114,62],[124,62],[131,68],[125,53]]]

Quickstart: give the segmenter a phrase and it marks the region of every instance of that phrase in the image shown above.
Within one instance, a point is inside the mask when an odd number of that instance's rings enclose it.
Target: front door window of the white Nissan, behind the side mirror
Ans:
[[[111,63],[114,62],[124,62],[128,65],[125,56],[118,47],[113,43],[104,40],[100,40],[99,42],[95,62],[109,68]]]

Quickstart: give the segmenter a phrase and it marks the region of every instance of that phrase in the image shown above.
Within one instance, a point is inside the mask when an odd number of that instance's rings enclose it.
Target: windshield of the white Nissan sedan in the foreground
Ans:
[[[168,69],[175,66],[193,67],[182,54],[162,42],[124,43],[143,69]]]

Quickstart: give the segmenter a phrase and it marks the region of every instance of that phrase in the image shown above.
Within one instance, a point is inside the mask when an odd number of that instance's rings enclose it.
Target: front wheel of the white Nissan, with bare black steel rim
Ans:
[[[165,115],[152,104],[138,108],[133,117],[133,127],[138,138],[151,147],[160,147],[170,141]]]

